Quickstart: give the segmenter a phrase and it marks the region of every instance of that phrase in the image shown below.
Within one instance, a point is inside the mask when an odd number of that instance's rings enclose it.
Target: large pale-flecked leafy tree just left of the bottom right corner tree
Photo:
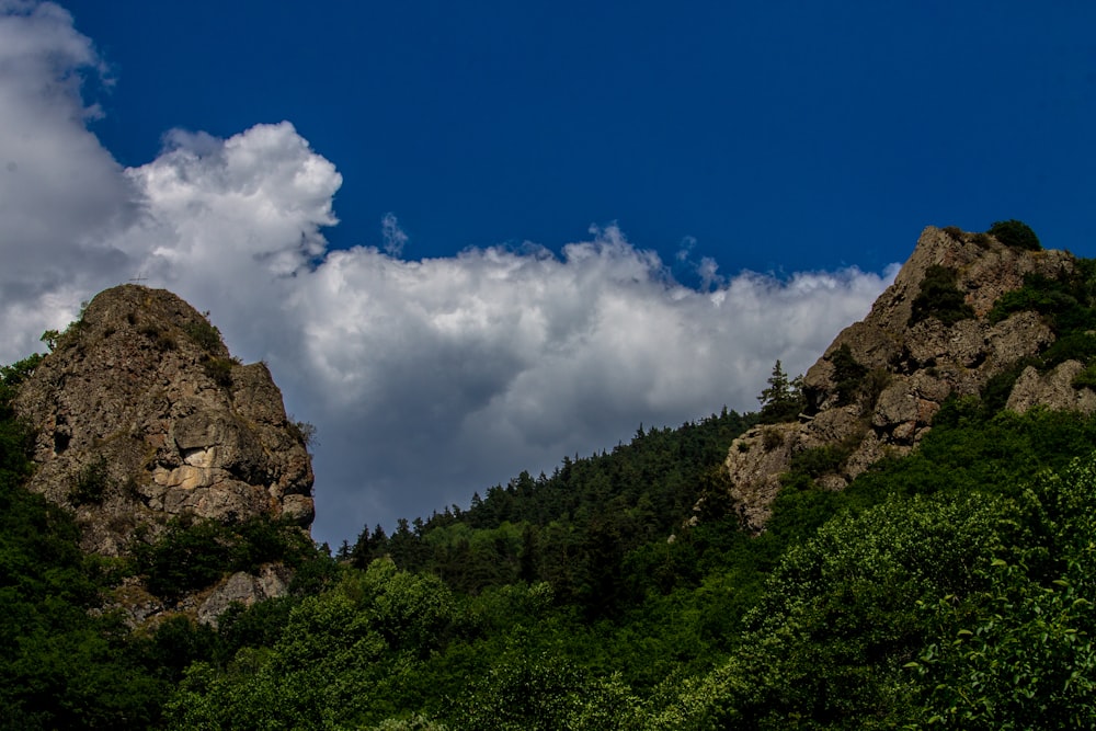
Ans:
[[[971,556],[993,545],[1001,506],[891,500],[838,515],[789,548],[730,660],[683,684],[657,728],[893,728],[912,713],[903,665],[933,636],[918,601],[980,586]]]

